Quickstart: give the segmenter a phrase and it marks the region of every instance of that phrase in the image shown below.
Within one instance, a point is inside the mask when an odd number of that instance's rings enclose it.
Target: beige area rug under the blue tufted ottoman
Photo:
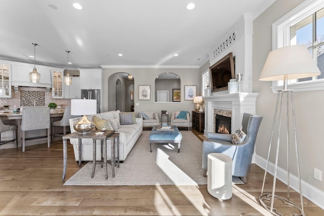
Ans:
[[[108,179],[104,168],[97,161],[94,178],[91,178],[92,161],[79,169],[67,185],[206,185],[201,169],[202,143],[192,133],[180,131],[182,142],[180,153],[175,144],[153,144],[150,152],[150,131],[141,137],[120,167],[115,167],[115,178],[111,177],[108,164]]]

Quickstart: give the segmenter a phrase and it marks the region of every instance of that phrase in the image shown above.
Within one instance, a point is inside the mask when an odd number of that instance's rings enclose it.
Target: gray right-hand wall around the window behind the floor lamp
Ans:
[[[267,158],[277,95],[273,94],[270,89],[271,82],[259,81],[259,76],[268,53],[271,51],[271,25],[302,2],[301,0],[277,0],[253,23],[253,92],[260,93],[256,110],[258,114],[263,115],[257,138],[256,154],[265,159]],[[319,141],[323,125],[321,111],[324,107],[324,100],[322,99],[322,91],[294,93],[301,177],[303,181],[324,191],[324,183],[313,178],[314,167],[324,171],[324,145]],[[284,122],[286,122],[285,120],[284,118]],[[281,141],[278,165],[287,170],[284,142],[284,140]],[[295,159],[293,152],[291,155],[293,161]],[[274,163],[274,154],[271,155],[270,161]],[[297,176],[295,163],[291,164],[290,171]]]

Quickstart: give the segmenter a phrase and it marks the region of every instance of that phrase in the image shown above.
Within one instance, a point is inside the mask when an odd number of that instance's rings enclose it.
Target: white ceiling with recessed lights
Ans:
[[[194,3],[188,11],[186,5]],[[273,2],[273,0],[271,1]],[[1,0],[0,58],[50,66],[203,65],[243,13],[266,0]],[[269,5],[269,4],[268,4]],[[118,56],[123,54],[123,56]],[[174,56],[178,54],[178,56]]]

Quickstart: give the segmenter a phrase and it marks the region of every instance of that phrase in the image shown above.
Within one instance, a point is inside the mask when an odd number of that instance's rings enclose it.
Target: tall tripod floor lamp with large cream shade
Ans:
[[[300,213],[295,215],[305,215],[304,214],[304,207],[303,207],[303,194],[301,188],[301,178],[300,178],[300,169],[299,169],[299,159],[298,159],[298,147],[297,147],[297,133],[296,133],[296,121],[295,121],[295,107],[294,107],[294,97],[293,91],[288,90],[288,80],[289,79],[299,79],[299,78],[306,78],[311,76],[317,76],[320,74],[318,67],[316,66],[315,62],[313,61],[312,57],[310,56],[307,48],[304,45],[294,45],[284,48],[279,48],[274,51],[271,51],[268,55],[268,58],[264,64],[262,69],[261,75],[259,80],[262,81],[277,81],[277,80],[284,80],[284,88],[278,91],[277,96],[277,103],[276,109],[274,114],[274,120],[272,125],[272,132],[271,132],[271,139],[268,151],[268,159],[264,173],[263,185],[261,190],[261,195],[259,197],[260,203],[265,207],[269,212],[274,215],[281,215],[276,208],[274,208],[274,199],[281,200],[286,205],[293,206],[297,208]],[[279,144],[280,144],[280,130],[281,130],[281,120],[282,120],[282,104],[284,101],[284,95],[287,96],[287,129],[286,129],[286,136],[287,136],[287,198],[276,195],[275,194],[275,183],[277,177],[277,167],[278,167],[278,157],[279,157]],[[291,101],[291,104],[290,104]],[[276,123],[278,116],[278,122]],[[299,180],[299,191],[300,191],[300,202],[301,206],[294,203],[290,200],[289,197],[289,137],[290,137],[290,114],[292,116],[293,122],[293,131],[294,131],[294,146],[296,152],[296,162],[297,162],[297,173],[298,173],[298,180]],[[277,125],[277,126],[276,126]],[[273,135],[275,133],[275,128],[277,129],[277,143],[276,143],[276,151],[275,151],[275,164],[274,164],[274,175],[273,175],[273,185],[272,185],[272,193],[264,193],[264,184],[266,180],[268,164],[269,164],[269,157],[272,147],[272,140]],[[266,203],[270,202],[270,206]]]

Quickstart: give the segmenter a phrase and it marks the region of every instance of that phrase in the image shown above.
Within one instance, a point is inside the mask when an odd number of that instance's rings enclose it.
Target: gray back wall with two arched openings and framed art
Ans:
[[[141,111],[151,110],[161,113],[167,110],[170,114],[173,111],[186,110],[191,113],[195,104],[193,101],[184,100],[184,86],[197,85],[197,95],[201,95],[199,68],[104,68],[103,72],[103,111],[115,110],[115,80],[117,73],[126,72],[134,77],[134,104],[136,116]],[[179,75],[181,80],[181,102],[159,103],[155,102],[155,78],[157,75],[171,72]],[[108,80],[109,79],[109,80]],[[150,100],[138,100],[138,85],[150,85]],[[170,94],[170,92],[169,92]],[[172,94],[172,93],[171,93]],[[138,103],[138,106],[136,105]],[[169,122],[171,115],[169,115]],[[191,114],[190,114],[191,121]]]

